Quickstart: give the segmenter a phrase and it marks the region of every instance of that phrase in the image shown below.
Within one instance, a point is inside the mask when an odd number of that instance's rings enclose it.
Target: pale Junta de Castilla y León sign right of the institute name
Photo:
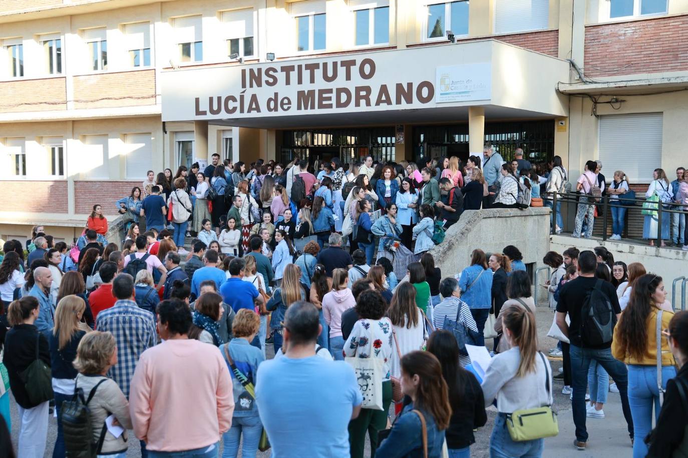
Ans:
[[[490,63],[437,67],[435,102],[490,100],[491,75]]]

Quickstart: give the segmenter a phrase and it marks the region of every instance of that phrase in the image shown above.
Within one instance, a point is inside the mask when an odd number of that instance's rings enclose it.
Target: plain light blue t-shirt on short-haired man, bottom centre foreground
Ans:
[[[256,400],[272,458],[349,458],[354,406],[363,397],[354,369],[319,356],[260,364]]]

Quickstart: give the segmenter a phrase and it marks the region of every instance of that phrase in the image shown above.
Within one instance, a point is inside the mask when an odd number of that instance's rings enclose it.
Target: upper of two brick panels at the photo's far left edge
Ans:
[[[67,89],[65,78],[14,80],[0,83],[0,113],[63,110]]]

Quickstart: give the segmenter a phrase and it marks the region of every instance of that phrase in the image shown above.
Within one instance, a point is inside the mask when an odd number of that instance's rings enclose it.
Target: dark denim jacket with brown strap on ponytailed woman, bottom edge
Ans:
[[[404,407],[401,415],[396,419],[391,427],[387,439],[383,440],[378,447],[376,455],[385,458],[422,458],[423,439],[422,425],[420,417],[413,410],[413,404]],[[442,455],[442,444],[444,444],[444,431],[439,431],[435,424],[435,419],[429,413],[418,409],[425,418],[427,437],[428,437],[428,457],[439,457]]]

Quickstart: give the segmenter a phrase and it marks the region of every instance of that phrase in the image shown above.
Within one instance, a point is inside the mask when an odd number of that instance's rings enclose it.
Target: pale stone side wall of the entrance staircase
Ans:
[[[430,250],[442,276],[455,275],[471,263],[471,252],[502,252],[507,245],[519,248],[526,264],[542,267],[550,249],[549,208],[494,208],[466,210],[447,230],[441,245]]]

